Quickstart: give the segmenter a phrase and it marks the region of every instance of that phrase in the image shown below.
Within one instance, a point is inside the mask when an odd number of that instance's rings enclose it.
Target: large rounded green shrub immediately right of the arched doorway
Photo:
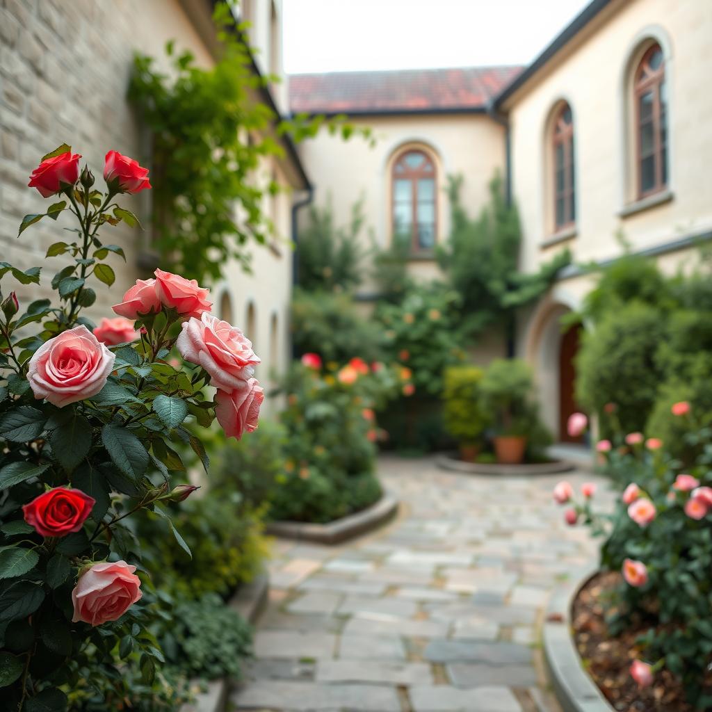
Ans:
[[[642,430],[664,379],[656,350],[665,333],[661,313],[649,305],[631,303],[604,315],[583,335],[577,401],[598,413],[613,402],[623,429]]]

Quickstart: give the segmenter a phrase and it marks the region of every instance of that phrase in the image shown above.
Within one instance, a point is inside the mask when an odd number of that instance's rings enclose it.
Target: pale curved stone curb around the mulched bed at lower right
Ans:
[[[580,589],[598,572],[557,587],[544,622],[544,658],[557,700],[564,712],[615,712],[583,668],[572,637],[572,604]],[[558,620],[552,620],[552,617]]]

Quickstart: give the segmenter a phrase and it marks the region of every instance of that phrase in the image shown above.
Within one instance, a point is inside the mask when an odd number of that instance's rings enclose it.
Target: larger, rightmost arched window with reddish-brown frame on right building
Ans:
[[[659,44],[643,55],[634,75],[638,196],[667,185],[667,91],[665,62]]]

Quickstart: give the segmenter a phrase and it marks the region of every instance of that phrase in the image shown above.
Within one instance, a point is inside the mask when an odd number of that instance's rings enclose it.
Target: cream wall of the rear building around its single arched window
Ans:
[[[494,172],[504,171],[504,132],[486,115],[374,115],[351,121],[372,129],[375,147],[360,137],[344,142],[322,132],[299,150],[316,185],[315,204],[323,207],[330,201],[337,225],[348,224],[352,206],[362,199],[365,227],[361,239],[365,246],[372,240],[387,246],[392,239],[390,167],[399,150],[420,147],[435,159],[438,241],[449,233],[447,176],[464,176],[461,199],[474,216],[487,201],[488,182]],[[432,260],[412,261],[410,268],[422,278],[432,278],[438,272]]]

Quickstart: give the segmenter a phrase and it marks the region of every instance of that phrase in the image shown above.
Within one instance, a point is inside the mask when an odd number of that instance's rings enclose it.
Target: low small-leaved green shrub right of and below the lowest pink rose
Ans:
[[[239,680],[251,654],[251,629],[218,595],[206,594],[177,602],[159,642],[167,664],[184,675]]]

